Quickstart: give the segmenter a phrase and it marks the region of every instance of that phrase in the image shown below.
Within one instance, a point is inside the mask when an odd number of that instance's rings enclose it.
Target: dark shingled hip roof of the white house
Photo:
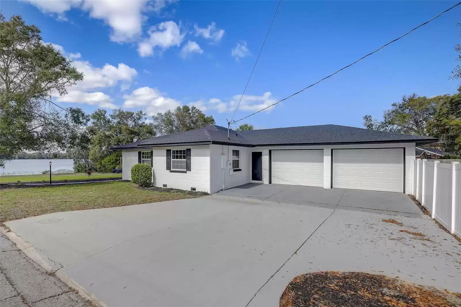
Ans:
[[[119,145],[111,149],[139,149],[159,146],[225,144],[237,146],[264,145],[327,145],[361,143],[403,143],[417,145],[437,142],[436,138],[404,135],[384,131],[368,130],[340,125],[316,125],[248,131],[229,130],[211,125],[195,130],[175,132],[153,137],[144,141]]]

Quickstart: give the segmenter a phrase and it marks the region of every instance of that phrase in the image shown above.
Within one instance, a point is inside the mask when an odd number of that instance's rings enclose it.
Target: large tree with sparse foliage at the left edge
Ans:
[[[85,113],[51,96],[83,79],[40,30],[0,14],[0,165],[24,150],[63,150],[84,129]]]

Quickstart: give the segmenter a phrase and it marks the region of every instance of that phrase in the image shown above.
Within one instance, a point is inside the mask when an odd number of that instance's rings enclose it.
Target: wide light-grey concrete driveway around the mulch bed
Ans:
[[[428,217],[394,216],[404,226],[382,222],[389,217],[210,195],[6,225],[109,307],[276,307],[291,278],[317,270],[461,292],[459,243]],[[58,222],[37,224],[47,218]]]

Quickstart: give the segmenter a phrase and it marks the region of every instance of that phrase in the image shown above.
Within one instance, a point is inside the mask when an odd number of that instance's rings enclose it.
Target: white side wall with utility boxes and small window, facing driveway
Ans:
[[[240,169],[230,174],[232,160],[232,149],[240,150]],[[221,169],[221,155],[224,154],[227,159],[227,167],[224,169],[224,187],[229,189],[250,182],[251,178],[251,152],[258,151],[255,148],[227,146],[227,145],[210,145],[210,163],[211,163],[211,193],[223,189],[223,169]],[[264,160],[264,159],[263,159]],[[264,165],[264,161],[263,161]],[[264,166],[263,166],[264,167]],[[263,170],[264,174],[264,170]]]

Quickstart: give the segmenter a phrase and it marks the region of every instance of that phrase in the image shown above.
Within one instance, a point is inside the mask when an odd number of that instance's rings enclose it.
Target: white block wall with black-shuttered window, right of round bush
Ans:
[[[166,149],[186,148],[190,148],[191,171],[177,173],[166,170]],[[197,191],[210,193],[210,146],[154,147],[152,150],[154,186],[161,188],[166,184],[168,188],[188,191],[194,187]]]

